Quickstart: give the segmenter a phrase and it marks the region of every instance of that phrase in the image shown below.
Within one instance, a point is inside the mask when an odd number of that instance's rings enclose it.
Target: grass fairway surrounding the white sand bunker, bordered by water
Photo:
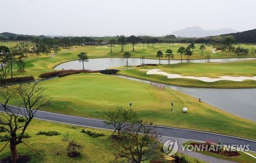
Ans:
[[[169,74],[180,74],[182,76],[210,77],[218,78],[219,76],[256,76],[256,60],[227,62],[227,63],[178,63],[171,65],[143,66],[133,69],[119,71],[118,73],[125,76],[146,79],[170,85],[189,86],[189,87],[215,87],[215,88],[242,88],[256,87],[256,81],[244,80],[236,81],[216,81],[203,82],[194,79],[168,79],[163,75],[147,75],[146,71],[139,69],[162,69]]]

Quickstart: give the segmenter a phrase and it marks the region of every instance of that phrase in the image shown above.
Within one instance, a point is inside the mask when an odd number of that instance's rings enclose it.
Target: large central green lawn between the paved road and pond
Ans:
[[[129,109],[133,102],[139,116],[156,125],[256,139],[256,123],[199,103],[176,90],[102,74],[71,75],[43,81],[42,85],[53,100],[50,107],[44,108],[47,111],[103,119],[103,110],[118,106]],[[172,101],[175,112],[169,111]],[[183,107],[189,109],[187,114],[182,113]]]

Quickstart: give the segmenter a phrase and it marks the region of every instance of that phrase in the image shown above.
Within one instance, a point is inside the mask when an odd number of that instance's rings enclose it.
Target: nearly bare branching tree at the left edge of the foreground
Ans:
[[[1,91],[4,100],[0,104],[4,107],[6,114],[0,117],[0,124],[4,125],[10,134],[11,160],[14,163],[18,158],[16,146],[23,143],[25,131],[34,118],[34,114],[41,107],[50,103],[50,100],[43,95],[44,90],[38,81],[34,81],[27,84],[11,85]],[[24,106],[24,108],[10,109],[8,103],[12,99],[19,99],[19,106]],[[20,115],[25,118],[23,124],[18,123]],[[18,131],[20,133],[17,136]]]

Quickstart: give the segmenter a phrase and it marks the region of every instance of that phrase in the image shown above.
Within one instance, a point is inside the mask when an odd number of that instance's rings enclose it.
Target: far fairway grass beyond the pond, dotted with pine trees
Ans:
[[[132,51],[132,45],[126,44],[125,45],[125,51],[130,51],[132,57],[145,57],[145,58],[156,58],[157,51],[161,50],[163,53],[167,49],[172,49],[174,51],[175,59],[180,59],[180,55],[176,54],[178,48],[180,46],[187,46],[188,44],[185,43],[175,43],[174,45],[169,45],[166,43],[156,43],[154,44],[154,47],[149,46],[143,48],[142,44],[136,44],[135,45],[135,52]],[[201,51],[199,49],[199,46],[201,44],[195,44],[196,49],[194,49],[194,54],[191,56],[191,59],[196,58],[204,58],[204,56],[201,56]],[[241,47],[246,46],[249,49],[252,49],[254,45],[251,44],[241,44]],[[237,56],[233,53],[225,53],[222,54],[220,52],[217,52],[216,54],[212,54],[211,46],[206,46],[206,50],[203,54],[211,54],[211,58],[228,58],[228,57],[253,57],[254,55],[240,55]],[[84,46],[73,46],[72,49],[62,49],[60,52],[58,52],[53,57],[51,55],[39,55],[31,56],[28,54],[28,58],[25,59],[26,65],[25,65],[25,73],[17,72],[17,66],[14,66],[14,76],[28,76],[32,75],[34,77],[38,77],[42,73],[46,73],[49,71],[52,71],[53,67],[57,64],[60,64],[62,62],[71,61],[71,60],[77,60],[77,55],[80,52],[87,52],[89,58],[101,58],[101,57],[122,57],[123,52],[120,52],[120,45],[115,45],[113,48],[113,53],[110,53],[110,48],[107,45],[102,46],[91,46],[91,45],[84,45]],[[166,58],[163,58],[166,59]]]

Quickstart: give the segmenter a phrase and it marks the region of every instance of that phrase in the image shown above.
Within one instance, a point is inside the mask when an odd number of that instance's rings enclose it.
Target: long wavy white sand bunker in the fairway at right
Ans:
[[[194,76],[182,76],[179,74],[168,74],[166,72],[162,72],[161,69],[140,69],[140,71],[147,71],[147,75],[164,75],[167,76],[169,79],[176,79],[176,78],[184,78],[184,79],[197,79],[201,80],[204,82],[215,82],[215,81],[220,81],[220,80],[231,80],[231,81],[244,81],[244,80],[255,80],[256,81],[256,76],[254,77],[230,77],[230,76],[219,76],[219,78],[208,78],[208,77],[194,77]]]

